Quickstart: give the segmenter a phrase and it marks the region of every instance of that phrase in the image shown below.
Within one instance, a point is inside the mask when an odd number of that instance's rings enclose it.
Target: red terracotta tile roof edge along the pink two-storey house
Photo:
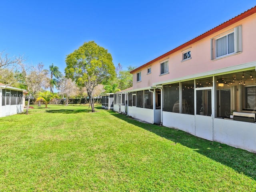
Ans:
[[[236,22],[238,22],[238,21],[240,21],[240,20],[242,20],[242,19],[244,19],[244,18],[254,14],[254,13],[256,13],[256,6],[254,6],[253,8],[251,8],[251,9],[241,13],[240,15],[238,15],[238,16],[236,16],[236,17],[234,17],[234,18],[232,18],[232,19],[230,19],[230,20],[228,20],[228,21],[226,21],[226,22],[216,26],[215,28],[212,28],[211,30],[201,34],[200,36],[197,36],[196,38],[194,38],[194,39],[192,39],[192,40],[190,40],[190,41],[188,41],[188,42],[186,42],[186,43],[184,43],[184,44],[174,48],[173,50],[170,50],[169,52],[167,52],[167,53],[165,53],[165,54],[163,54],[163,55],[161,55],[161,56],[151,60],[150,62],[147,62],[146,64],[144,64],[144,65],[142,65],[142,66],[140,66],[140,67],[130,71],[130,73],[133,73],[133,72],[135,72],[135,71],[137,71],[137,70],[139,70],[139,69],[141,69],[141,68],[143,68],[145,66],[148,66],[148,65],[152,64],[153,62],[156,62],[157,60],[160,60],[160,59],[162,59],[162,58],[164,58],[164,57],[166,57],[166,56],[168,56],[168,55],[170,55],[170,54],[172,54],[172,53],[174,53],[176,51],[179,51],[179,50],[181,50],[181,49],[183,49],[183,48],[185,48],[185,47],[187,47],[187,46],[189,46],[189,45],[191,45],[191,44],[193,44],[193,43],[195,43],[195,42],[197,42],[199,40],[202,40],[203,38],[206,38],[206,37],[208,37],[208,36],[218,32],[219,30],[222,30],[222,29],[224,29],[224,28],[226,28],[226,27],[228,27],[228,26],[230,26],[230,25],[232,25],[232,24],[234,24],[234,23],[236,23]]]

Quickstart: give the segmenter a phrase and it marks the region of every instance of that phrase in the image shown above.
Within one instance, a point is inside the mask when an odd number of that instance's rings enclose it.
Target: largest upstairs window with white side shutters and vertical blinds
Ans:
[[[221,58],[242,51],[242,26],[211,39],[211,59]]]

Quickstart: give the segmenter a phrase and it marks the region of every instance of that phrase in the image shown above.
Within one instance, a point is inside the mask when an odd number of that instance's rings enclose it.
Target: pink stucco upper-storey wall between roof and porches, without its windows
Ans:
[[[228,30],[235,28],[236,26],[242,25],[242,52],[240,54],[234,54],[232,56],[224,57],[221,59],[211,60],[211,45],[210,39],[217,35],[223,34]],[[151,74],[147,74],[148,66],[145,66],[138,71],[133,73],[133,88],[139,89],[157,82],[166,80],[172,80],[189,76],[192,74],[198,74],[217,70],[221,68],[228,68],[230,66],[236,66],[256,60],[255,47],[252,42],[256,42],[256,14],[249,16],[231,26],[228,26],[218,33],[215,33],[207,38],[204,38],[187,48],[191,50],[191,59],[182,61],[182,50],[177,51],[171,55],[162,58],[151,64]],[[186,50],[184,48],[183,50]],[[203,54],[202,54],[203,53]],[[169,59],[168,59],[169,58]],[[160,62],[168,59],[169,60],[169,73],[160,76]],[[150,65],[149,65],[150,66]],[[141,82],[136,82],[137,72],[141,71]]]

